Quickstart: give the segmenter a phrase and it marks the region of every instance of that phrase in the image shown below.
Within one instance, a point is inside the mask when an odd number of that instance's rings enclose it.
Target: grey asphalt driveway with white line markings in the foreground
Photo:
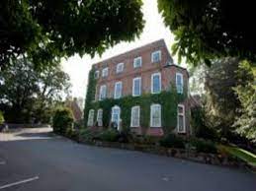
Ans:
[[[0,133],[0,191],[256,191],[256,174],[80,145],[49,129]]]

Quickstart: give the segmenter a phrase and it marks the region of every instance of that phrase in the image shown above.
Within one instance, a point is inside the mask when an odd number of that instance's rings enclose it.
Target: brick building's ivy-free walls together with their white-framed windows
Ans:
[[[171,86],[181,95],[188,95],[189,75],[185,68],[173,63],[173,59],[163,39],[135,48],[126,53],[114,56],[93,65],[95,71],[96,94],[94,101],[106,98],[120,99],[126,96],[141,96],[144,94],[160,94],[170,91]],[[162,107],[154,102],[150,105],[149,127],[146,134],[163,135]],[[122,127],[122,108],[114,105],[110,120],[116,122],[118,129]],[[141,133],[141,108],[139,104],[130,108],[130,129]],[[90,109],[87,126],[101,127],[104,110]],[[188,98],[177,105],[177,126],[174,132],[190,134],[190,108]]]

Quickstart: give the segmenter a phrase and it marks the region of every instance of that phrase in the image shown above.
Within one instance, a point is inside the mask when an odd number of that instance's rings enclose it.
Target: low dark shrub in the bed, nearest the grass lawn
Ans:
[[[217,151],[216,146],[212,141],[203,139],[191,138],[189,140],[189,145],[195,147],[196,151],[199,153],[215,154]]]

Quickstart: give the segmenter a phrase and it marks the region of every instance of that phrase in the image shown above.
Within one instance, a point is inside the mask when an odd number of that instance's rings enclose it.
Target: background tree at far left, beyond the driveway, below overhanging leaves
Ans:
[[[26,58],[0,72],[0,106],[8,122],[47,122],[54,101],[69,87],[59,66],[36,70]]]

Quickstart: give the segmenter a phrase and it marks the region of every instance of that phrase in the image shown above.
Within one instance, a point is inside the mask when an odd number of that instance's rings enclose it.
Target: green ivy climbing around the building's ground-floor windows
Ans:
[[[92,91],[95,86],[89,86],[88,92]],[[95,90],[95,88],[93,89]],[[87,93],[91,95],[91,93]],[[175,89],[164,91],[160,94],[143,94],[142,96],[124,96],[119,99],[106,98],[104,100],[90,102],[86,104],[85,108],[85,121],[87,121],[89,109],[95,110],[96,113],[99,108],[103,109],[103,126],[109,127],[111,120],[112,107],[119,105],[121,107],[121,119],[123,128],[130,126],[130,113],[131,107],[135,105],[140,106],[140,126],[142,133],[146,132],[146,128],[150,126],[150,105],[152,103],[159,103],[162,106],[162,127],[164,133],[170,133],[177,124],[177,105],[182,102],[187,94],[177,94]],[[90,99],[87,99],[89,101]],[[86,101],[86,102],[87,102]]]

